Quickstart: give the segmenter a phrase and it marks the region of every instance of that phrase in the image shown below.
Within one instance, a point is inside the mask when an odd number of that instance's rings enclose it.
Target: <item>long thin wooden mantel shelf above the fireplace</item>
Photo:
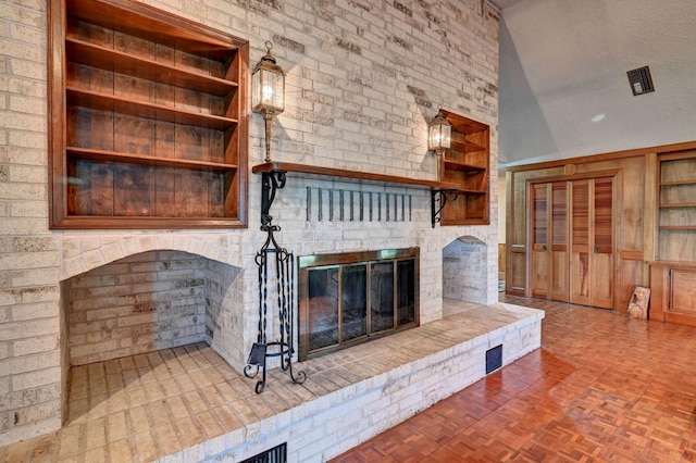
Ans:
[[[295,164],[289,162],[266,162],[251,167],[254,174],[284,172],[300,176],[338,177],[351,180],[365,180],[382,184],[408,185],[415,188],[460,191],[461,185],[448,182],[424,180],[396,175],[372,174],[369,172],[348,171],[345,168],[320,167],[316,165]]]

